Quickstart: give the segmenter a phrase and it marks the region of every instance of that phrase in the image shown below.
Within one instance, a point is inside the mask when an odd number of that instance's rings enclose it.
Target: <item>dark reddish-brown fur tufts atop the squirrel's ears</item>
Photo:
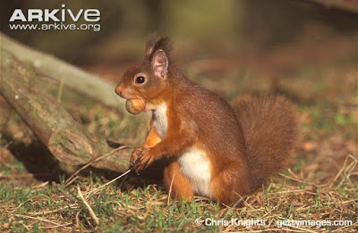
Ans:
[[[157,37],[156,34],[149,36],[144,57],[150,62],[152,61],[153,55],[159,50],[163,50],[166,57],[169,57],[170,52],[173,49],[173,43],[169,37]]]

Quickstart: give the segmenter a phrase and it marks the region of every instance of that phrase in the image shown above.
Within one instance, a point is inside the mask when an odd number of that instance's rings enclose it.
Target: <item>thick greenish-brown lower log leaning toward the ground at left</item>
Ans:
[[[4,41],[2,41],[4,42]],[[102,154],[113,150],[103,138],[96,137],[74,121],[61,105],[57,104],[53,96],[36,85],[36,73],[31,66],[17,60],[12,53],[1,49],[0,91],[5,99],[21,115],[44,145],[55,157],[67,164],[79,165],[90,161]],[[26,54],[25,51],[24,54]],[[17,53],[20,53],[19,51]],[[22,59],[23,56],[19,54]],[[26,55],[24,55],[26,57]],[[27,57],[29,59],[30,57]],[[24,59],[24,60],[26,60]],[[61,68],[64,62],[57,64],[55,58],[49,57],[51,65],[58,67],[56,75],[70,75]],[[35,61],[36,58],[35,58]],[[49,65],[44,62],[43,65]],[[43,68],[50,72],[48,68]],[[70,70],[76,71],[75,68]],[[84,75],[84,74],[82,74]],[[71,78],[71,77],[70,77]],[[73,78],[72,78],[73,80]],[[93,84],[94,85],[94,84]],[[96,92],[94,87],[92,91]],[[109,87],[108,87],[109,88]],[[118,98],[116,98],[118,99]],[[124,172],[129,167],[130,150],[116,151],[103,160],[93,164],[94,167]]]

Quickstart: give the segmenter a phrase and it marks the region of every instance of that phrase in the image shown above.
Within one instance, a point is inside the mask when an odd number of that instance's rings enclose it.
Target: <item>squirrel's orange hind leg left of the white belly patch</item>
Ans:
[[[180,168],[179,162],[174,161],[164,169],[164,184],[170,196],[177,201],[182,198],[185,201],[192,202],[192,184],[187,179]]]

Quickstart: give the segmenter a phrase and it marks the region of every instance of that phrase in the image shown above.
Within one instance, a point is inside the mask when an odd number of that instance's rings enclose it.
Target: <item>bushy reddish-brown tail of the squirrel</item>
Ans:
[[[285,166],[298,137],[298,112],[282,96],[240,96],[234,103],[243,130],[251,190]]]

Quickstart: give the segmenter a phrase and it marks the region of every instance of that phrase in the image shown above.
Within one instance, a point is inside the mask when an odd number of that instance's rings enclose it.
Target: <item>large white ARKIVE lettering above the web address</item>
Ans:
[[[84,21],[96,22],[100,20],[100,12],[98,9],[80,9],[78,12],[72,12],[71,9],[66,9],[65,4],[62,4],[62,9],[28,9],[25,14],[21,9],[15,9],[10,18],[11,22],[15,21],[67,21],[72,20],[77,22],[83,17]]]

